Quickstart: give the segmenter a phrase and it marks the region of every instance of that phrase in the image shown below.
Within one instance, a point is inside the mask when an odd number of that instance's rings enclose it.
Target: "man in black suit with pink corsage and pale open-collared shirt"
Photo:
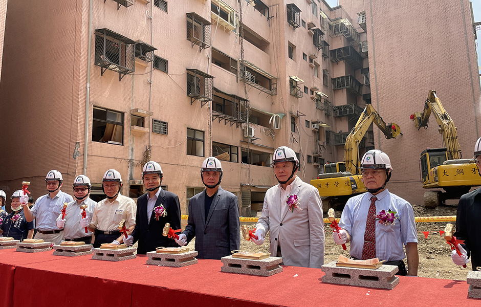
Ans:
[[[173,230],[181,229],[179,198],[162,190],[163,179],[159,163],[147,162],[142,169],[142,181],[147,193],[137,200],[136,223],[132,235],[123,239],[127,245],[139,242],[138,254],[155,251],[157,247],[178,247],[173,239],[162,235],[165,223]]]

